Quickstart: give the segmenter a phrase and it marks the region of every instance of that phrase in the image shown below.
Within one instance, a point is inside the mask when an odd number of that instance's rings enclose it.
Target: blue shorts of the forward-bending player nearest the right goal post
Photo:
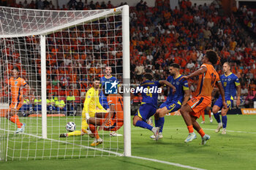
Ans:
[[[153,116],[156,112],[157,112],[156,107],[153,107],[150,104],[143,104],[140,106],[140,108],[138,109],[138,112],[135,114],[135,116],[142,118],[146,122],[146,120],[149,117]]]

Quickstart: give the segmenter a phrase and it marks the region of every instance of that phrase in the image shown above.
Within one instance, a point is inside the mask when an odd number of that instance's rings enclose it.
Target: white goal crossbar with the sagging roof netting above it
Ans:
[[[117,7],[114,9],[104,9],[104,10],[86,10],[86,11],[49,11],[49,10],[37,10],[37,9],[20,9],[20,8],[10,8],[10,7],[0,7],[0,38],[12,38],[12,37],[21,37],[21,36],[35,36],[35,35],[48,35],[52,34],[53,32],[60,31],[64,28],[72,28],[72,26],[82,25],[83,23],[87,23],[89,21],[100,20],[101,18],[105,18],[106,16],[112,16],[121,13],[122,7]],[[20,16],[14,16],[14,10],[17,10]],[[59,13],[57,13],[59,12]],[[54,20],[44,20],[45,17],[52,16],[53,14],[61,14],[61,15],[69,15],[67,16],[66,20],[62,20],[59,23],[54,23]],[[85,13],[86,15],[81,15]],[[34,15],[33,15],[34,14]],[[41,15],[38,20],[34,20],[34,16],[37,14]],[[13,23],[15,26],[10,26],[7,23],[7,15],[11,15],[12,20],[8,20],[8,23]],[[48,15],[48,16],[47,16]],[[19,17],[19,18],[17,18]],[[23,18],[26,18],[26,20]],[[30,19],[29,19],[30,18]],[[32,20],[32,22],[28,22],[27,20]],[[41,26],[38,26],[39,20],[43,20]],[[45,21],[48,21],[46,23]],[[65,22],[66,23],[62,23]],[[47,25],[45,25],[45,23]],[[3,28],[3,25],[6,25],[7,28]],[[30,29],[24,29],[22,26],[30,24]],[[35,27],[32,25],[34,24]],[[48,28],[51,26],[51,28]],[[37,28],[34,30],[32,28]],[[39,30],[38,30],[39,29]],[[42,30],[43,29],[43,30]],[[15,30],[15,32],[12,32]]]

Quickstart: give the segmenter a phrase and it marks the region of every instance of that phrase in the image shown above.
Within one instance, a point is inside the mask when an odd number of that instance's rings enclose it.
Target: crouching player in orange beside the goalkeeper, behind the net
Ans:
[[[104,91],[104,90],[103,90]],[[107,96],[108,94],[105,94]],[[109,112],[106,113],[96,113],[95,117],[90,117],[87,120],[89,128],[94,134],[96,139],[99,139],[99,134],[97,132],[97,126],[99,126],[99,131],[117,131],[124,125],[124,104],[123,97],[120,94],[110,94],[107,97],[108,105],[110,107]],[[102,142],[91,143],[91,146],[96,146]]]

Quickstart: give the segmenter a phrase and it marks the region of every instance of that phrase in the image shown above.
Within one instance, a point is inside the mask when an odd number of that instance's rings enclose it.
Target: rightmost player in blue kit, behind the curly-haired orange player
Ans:
[[[214,117],[217,120],[217,123],[219,123],[215,132],[219,132],[219,130],[223,128],[222,134],[226,134],[227,111],[228,109],[231,109],[235,96],[237,96],[236,106],[240,105],[241,85],[238,77],[230,72],[230,63],[226,62],[223,64],[223,72],[224,74],[222,74],[220,80],[225,91],[227,109],[222,108],[222,97],[220,96],[215,102],[212,112],[214,113]],[[222,109],[222,122],[220,121],[219,117],[219,109]]]

